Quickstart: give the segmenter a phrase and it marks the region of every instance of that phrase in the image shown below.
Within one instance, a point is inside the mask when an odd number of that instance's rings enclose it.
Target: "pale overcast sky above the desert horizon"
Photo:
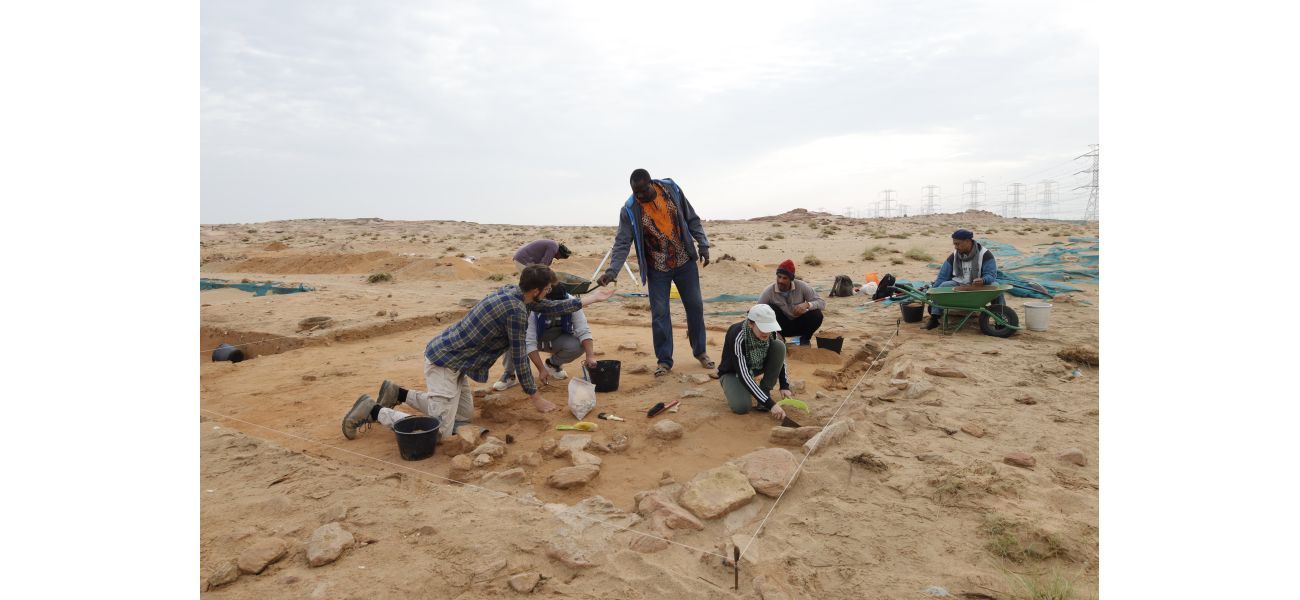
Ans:
[[[706,219],[793,208],[1080,218],[1096,17],[1065,1],[200,8],[200,221],[615,225],[628,175]],[[893,214],[900,214],[894,208]]]

